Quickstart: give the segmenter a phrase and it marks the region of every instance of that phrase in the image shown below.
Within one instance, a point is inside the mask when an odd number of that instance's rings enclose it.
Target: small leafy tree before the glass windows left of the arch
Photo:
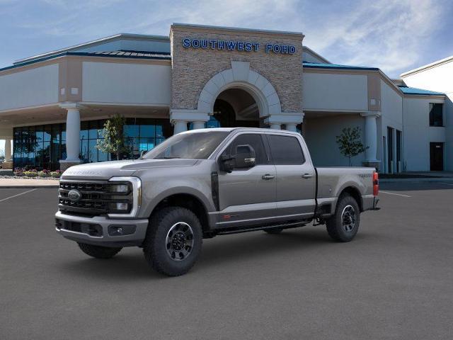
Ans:
[[[99,130],[99,135],[103,139],[98,139],[96,149],[108,154],[116,154],[116,159],[120,159],[121,154],[128,151],[127,139],[123,130],[126,118],[120,114],[113,115],[104,123],[104,130]]]

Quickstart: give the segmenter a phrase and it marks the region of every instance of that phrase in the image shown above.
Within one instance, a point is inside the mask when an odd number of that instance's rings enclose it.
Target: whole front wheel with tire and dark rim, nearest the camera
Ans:
[[[143,244],[149,266],[167,276],[180,276],[193,267],[202,246],[197,216],[180,207],[163,208],[151,216]]]

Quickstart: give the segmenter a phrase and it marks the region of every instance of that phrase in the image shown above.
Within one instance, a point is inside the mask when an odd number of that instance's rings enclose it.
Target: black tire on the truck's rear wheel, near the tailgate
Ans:
[[[354,226],[349,227],[351,228],[350,231],[347,231],[348,227],[345,227],[343,223],[343,214],[345,209],[348,207],[352,207],[354,211]],[[346,223],[348,225],[348,223]],[[354,239],[355,234],[359,229],[360,225],[360,208],[357,204],[357,201],[352,196],[348,194],[340,196],[338,198],[338,203],[336,206],[335,213],[326,221],[327,232],[332,239],[337,242],[350,242]]]

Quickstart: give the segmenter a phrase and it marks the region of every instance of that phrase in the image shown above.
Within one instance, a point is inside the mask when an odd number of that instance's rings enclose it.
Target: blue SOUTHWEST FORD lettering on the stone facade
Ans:
[[[266,53],[273,52],[282,55],[292,55],[296,52],[296,47],[293,45],[280,44],[265,44],[261,47],[258,42],[245,42],[239,40],[210,40],[197,38],[184,38],[183,47],[185,48],[201,48],[205,50],[227,50],[227,51],[243,51],[243,52],[258,52],[263,48]]]

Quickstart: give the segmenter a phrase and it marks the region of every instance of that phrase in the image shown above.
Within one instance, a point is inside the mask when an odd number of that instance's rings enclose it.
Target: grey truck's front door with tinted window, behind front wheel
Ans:
[[[265,224],[275,218],[275,166],[259,133],[243,133],[230,142],[222,155],[233,155],[238,145],[251,145],[256,165],[248,169],[219,171],[218,227]]]

